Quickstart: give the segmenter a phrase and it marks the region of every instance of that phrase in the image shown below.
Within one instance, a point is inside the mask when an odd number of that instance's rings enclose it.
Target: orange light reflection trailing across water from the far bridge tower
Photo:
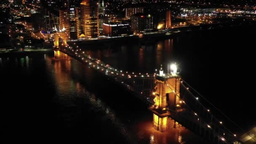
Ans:
[[[84,67],[80,67],[81,64],[78,61],[64,55],[64,53],[59,52],[55,53],[54,58],[47,57],[47,61],[48,64],[53,63],[53,66],[50,67],[53,68],[57,89],[60,94],[60,96],[56,98],[56,101],[65,101],[65,104],[67,104],[66,102],[74,103],[76,99],[75,97],[83,97],[84,101],[89,102],[90,111],[93,111],[96,115],[98,115],[96,117],[100,117],[101,121],[110,120],[111,125],[115,125],[119,132],[122,133],[127,140],[129,140],[128,137],[130,134],[127,132],[125,124],[123,124],[119,117],[115,115],[115,110],[105,104],[100,97],[87,91],[84,85],[82,85],[79,81],[75,82],[72,80],[72,78],[70,78],[72,72],[75,72],[75,75],[83,75],[80,74],[80,69],[83,69]],[[83,72],[86,71],[83,69]],[[73,91],[73,88],[75,88],[75,91]],[[86,115],[86,113],[84,115]]]

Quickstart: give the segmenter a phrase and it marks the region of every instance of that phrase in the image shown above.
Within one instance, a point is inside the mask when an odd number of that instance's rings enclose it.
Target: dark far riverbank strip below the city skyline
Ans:
[[[158,40],[166,40],[175,37],[179,37],[180,35],[189,34],[193,32],[202,32],[202,31],[213,31],[219,29],[226,28],[234,28],[234,27],[254,27],[256,25],[256,21],[243,21],[241,22],[233,22],[233,23],[219,23],[219,24],[200,24],[193,25],[187,27],[175,27],[172,29],[166,29],[164,32],[159,33],[149,33],[144,34],[142,37],[138,35],[133,36],[124,36],[124,37],[111,37],[111,38],[103,38],[103,39],[95,39],[95,40],[73,40],[67,42],[69,45],[78,44],[78,45],[86,45],[86,49],[90,48],[106,48],[106,46],[116,45],[116,44],[147,44],[147,43],[155,43]]]

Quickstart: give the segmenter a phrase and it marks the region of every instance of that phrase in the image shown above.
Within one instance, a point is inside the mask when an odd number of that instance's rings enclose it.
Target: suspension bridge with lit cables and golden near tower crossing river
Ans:
[[[125,72],[87,55],[75,45],[67,44],[60,47],[59,51],[88,64],[89,67],[106,75],[109,80],[121,85],[124,90],[149,104],[149,109],[153,113],[153,127],[157,131],[164,132],[168,128],[176,128],[179,124],[197,134],[207,144],[244,143],[230,128],[224,126],[224,120],[216,118],[211,110],[200,102],[203,99],[224,115],[179,76],[176,65],[171,66],[173,71],[170,74],[165,74],[162,68],[159,73],[156,71],[153,74]],[[236,127],[240,132],[244,132],[226,115],[224,116],[227,119],[225,123],[227,121],[233,123],[231,128]],[[255,137],[253,138],[250,133],[245,133],[243,136],[256,142]]]

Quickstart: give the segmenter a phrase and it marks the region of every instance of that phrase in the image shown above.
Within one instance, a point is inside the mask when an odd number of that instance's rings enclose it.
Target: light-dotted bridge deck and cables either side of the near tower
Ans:
[[[69,46],[60,48],[60,51],[88,64],[89,67],[106,75],[110,78],[109,80],[121,85],[124,90],[134,94],[141,99],[141,101],[151,105],[149,109],[154,112],[154,102],[151,100],[150,95],[152,95],[151,91],[155,87],[155,77],[159,77],[156,74],[123,72],[85,54],[81,49],[73,49]],[[165,77],[169,77],[169,75],[166,75]],[[170,88],[173,87],[171,84],[168,86]],[[184,84],[181,84],[181,86],[187,90]],[[176,96],[180,97],[181,95],[180,93],[177,93]],[[233,142],[240,144],[240,142],[237,142],[239,141],[237,137],[235,137],[227,128],[221,127],[219,125],[219,120],[213,117],[213,115],[210,115],[210,113],[207,112],[207,109],[205,109],[194,96],[183,96],[180,98],[184,104],[182,108],[167,108],[168,112],[171,114],[169,117],[171,117],[172,120],[178,122],[190,131],[193,131],[208,144],[233,144]]]

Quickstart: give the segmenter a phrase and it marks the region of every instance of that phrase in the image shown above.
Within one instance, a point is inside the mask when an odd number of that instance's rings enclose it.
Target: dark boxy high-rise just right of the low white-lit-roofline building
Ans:
[[[134,32],[145,33],[154,32],[154,17],[150,14],[136,13],[131,16],[131,30]]]

